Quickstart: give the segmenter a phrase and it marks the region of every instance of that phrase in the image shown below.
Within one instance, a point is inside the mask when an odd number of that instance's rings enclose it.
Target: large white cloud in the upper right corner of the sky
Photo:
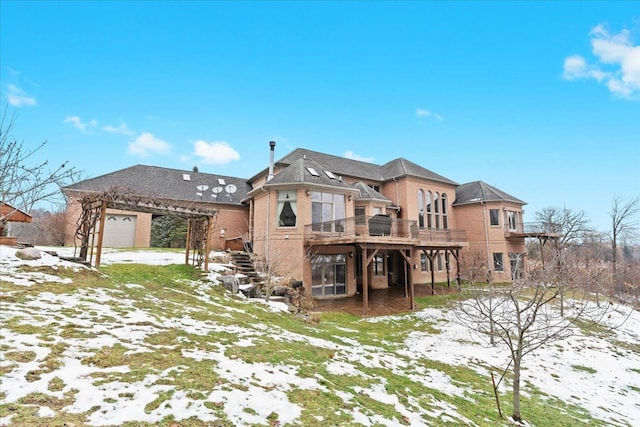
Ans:
[[[603,25],[589,33],[593,64],[580,55],[564,60],[563,77],[566,80],[594,79],[604,83],[609,91],[622,98],[634,99],[640,95],[640,45],[634,45],[628,30],[610,34]]]

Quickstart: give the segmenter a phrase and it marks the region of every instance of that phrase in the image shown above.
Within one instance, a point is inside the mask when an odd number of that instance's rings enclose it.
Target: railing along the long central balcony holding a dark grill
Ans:
[[[407,239],[420,242],[465,242],[464,230],[420,229],[417,222],[395,219],[386,215],[365,216],[307,224],[305,238],[309,240],[331,240],[342,237]]]

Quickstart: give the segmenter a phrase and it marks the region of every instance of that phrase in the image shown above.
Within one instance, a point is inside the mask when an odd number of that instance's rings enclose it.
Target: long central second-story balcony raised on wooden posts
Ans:
[[[386,215],[351,218],[307,224],[305,241],[313,244],[389,243],[416,246],[464,246],[464,230],[419,228],[416,221]]]

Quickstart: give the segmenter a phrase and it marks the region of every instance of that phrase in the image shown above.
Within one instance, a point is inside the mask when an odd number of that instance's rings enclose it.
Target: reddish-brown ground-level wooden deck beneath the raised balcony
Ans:
[[[415,296],[432,296],[430,284],[415,285]],[[435,296],[457,292],[454,284],[451,287],[436,285]],[[393,286],[388,289],[369,290],[369,307],[363,313],[362,294],[356,294],[349,298],[315,300],[315,311],[319,312],[346,312],[354,316],[376,317],[390,314],[405,313],[411,311],[410,298],[404,296],[404,286]],[[417,304],[416,304],[417,305]],[[420,307],[417,307],[418,309]]]

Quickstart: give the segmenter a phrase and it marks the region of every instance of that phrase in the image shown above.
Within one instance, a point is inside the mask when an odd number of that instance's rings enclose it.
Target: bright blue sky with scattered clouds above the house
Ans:
[[[15,136],[86,177],[398,157],[608,230],[640,194],[640,2],[0,2]],[[158,183],[161,185],[161,183]]]

